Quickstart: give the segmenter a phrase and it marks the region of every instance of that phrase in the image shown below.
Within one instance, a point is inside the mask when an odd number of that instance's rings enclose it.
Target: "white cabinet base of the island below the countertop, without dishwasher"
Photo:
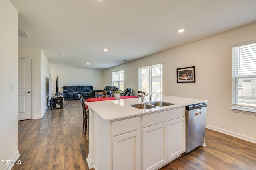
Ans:
[[[89,108],[88,166],[155,170],[185,152],[185,108],[105,121]]]

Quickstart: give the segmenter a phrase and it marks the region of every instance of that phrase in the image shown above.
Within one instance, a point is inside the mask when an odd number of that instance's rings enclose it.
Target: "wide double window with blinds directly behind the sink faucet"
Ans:
[[[161,99],[162,86],[162,64],[138,68],[138,90]]]

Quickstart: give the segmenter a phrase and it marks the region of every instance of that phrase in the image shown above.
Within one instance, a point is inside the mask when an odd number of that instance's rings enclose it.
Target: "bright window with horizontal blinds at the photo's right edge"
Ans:
[[[232,109],[256,113],[256,43],[233,47]]]

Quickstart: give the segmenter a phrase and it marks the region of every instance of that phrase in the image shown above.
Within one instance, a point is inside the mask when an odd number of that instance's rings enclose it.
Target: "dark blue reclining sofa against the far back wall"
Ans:
[[[84,99],[94,98],[95,96],[95,90],[92,86],[63,86],[62,89],[64,100],[79,99],[78,94],[82,94]]]

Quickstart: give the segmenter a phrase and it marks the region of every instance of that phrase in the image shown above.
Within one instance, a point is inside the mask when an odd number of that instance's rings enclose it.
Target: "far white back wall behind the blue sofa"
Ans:
[[[52,67],[51,70],[51,94],[56,93],[56,78],[59,77],[59,92],[62,92],[63,86],[72,85],[88,85],[92,86],[94,90],[103,90],[104,86],[104,71],[103,70],[90,70],[82,68],[63,68]],[[112,82],[111,82],[112,84]]]

